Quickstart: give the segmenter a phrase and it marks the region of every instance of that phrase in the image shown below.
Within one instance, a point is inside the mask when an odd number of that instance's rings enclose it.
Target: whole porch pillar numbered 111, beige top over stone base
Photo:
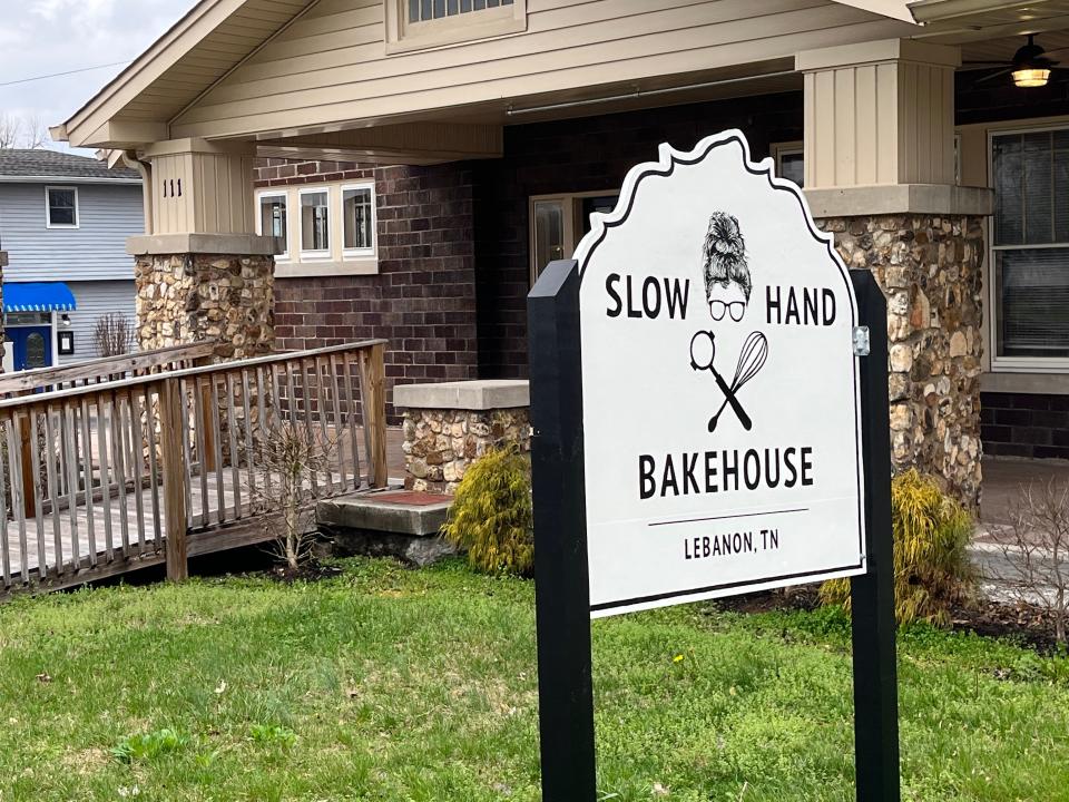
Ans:
[[[138,151],[145,236],[133,237],[138,340],[156,349],[204,340],[216,358],[274,349],[274,254],[255,232],[251,143],[179,139]]]

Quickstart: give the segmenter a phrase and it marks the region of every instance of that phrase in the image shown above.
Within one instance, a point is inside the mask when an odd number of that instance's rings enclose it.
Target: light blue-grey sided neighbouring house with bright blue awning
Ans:
[[[0,150],[4,370],[96,359],[97,321],[135,324],[126,239],[145,229],[140,176],[52,150]]]

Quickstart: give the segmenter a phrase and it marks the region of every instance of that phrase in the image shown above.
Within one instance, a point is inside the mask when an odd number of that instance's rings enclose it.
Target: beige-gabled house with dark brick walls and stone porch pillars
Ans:
[[[229,260],[275,312],[235,352],[374,334],[411,382],[522,376],[538,271],[659,143],[739,128],[887,293],[895,463],[974,499],[981,415],[1069,457],[1067,10],[203,0],[53,136],[146,178],[144,344],[205,336]]]

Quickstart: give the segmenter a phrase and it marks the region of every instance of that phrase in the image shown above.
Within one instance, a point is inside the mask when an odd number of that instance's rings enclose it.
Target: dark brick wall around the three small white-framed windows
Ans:
[[[389,340],[386,400],[396,421],[394,384],[477,375],[471,170],[271,160],[257,186],[367,178],[376,186],[379,274],[277,280],[275,334],[286,350]]]

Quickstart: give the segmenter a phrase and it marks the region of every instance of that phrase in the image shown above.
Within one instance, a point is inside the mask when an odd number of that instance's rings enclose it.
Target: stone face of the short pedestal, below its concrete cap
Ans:
[[[531,450],[527,408],[498,410],[410,409],[404,412],[404,486],[452,493],[477,458],[493,447]]]

